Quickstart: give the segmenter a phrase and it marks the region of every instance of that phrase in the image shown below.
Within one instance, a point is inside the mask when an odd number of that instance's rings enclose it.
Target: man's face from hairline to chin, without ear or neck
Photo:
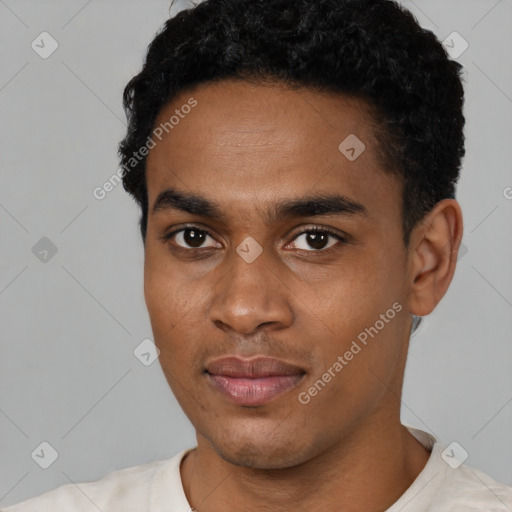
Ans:
[[[383,171],[364,104],[223,81],[183,92],[155,126],[177,114],[147,160],[145,298],[198,441],[234,464],[280,468],[385,425],[409,335],[408,253],[401,185]],[[279,210],[320,196],[346,203]],[[230,356],[277,358],[293,375],[212,365]]]

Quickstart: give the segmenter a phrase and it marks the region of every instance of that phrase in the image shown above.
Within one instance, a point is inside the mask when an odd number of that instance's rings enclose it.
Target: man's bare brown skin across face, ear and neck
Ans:
[[[144,276],[160,364],[197,433],[181,465],[187,499],[198,512],[385,510],[429,456],[400,423],[410,315],[428,315],[451,282],[460,207],[438,203],[404,246],[402,186],[383,170],[360,100],[230,80],[183,92],[156,125],[191,96],[197,106],[148,156]],[[338,150],[351,133],[366,145],[353,162]],[[225,218],[152,214],[167,188],[215,201]],[[368,213],[267,221],[269,205],[313,193],[343,194]],[[183,232],[159,239],[188,223],[212,234],[201,249]],[[312,226],[349,241],[318,249],[304,234]],[[263,247],[253,263],[235,252],[247,236]],[[299,393],[395,302],[401,312],[301,404]],[[208,384],[207,361],[257,354],[306,375],[258,407]]]

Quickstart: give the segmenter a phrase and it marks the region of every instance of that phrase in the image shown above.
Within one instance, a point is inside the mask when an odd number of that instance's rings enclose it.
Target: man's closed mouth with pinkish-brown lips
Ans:
[[[293,389],[306,371],[270,357],[225,357],[207,364],[205,374],[213,389],[232,403],[258,406]]]

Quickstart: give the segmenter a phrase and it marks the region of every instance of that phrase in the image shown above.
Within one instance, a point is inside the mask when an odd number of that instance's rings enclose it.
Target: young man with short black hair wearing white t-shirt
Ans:
[[[454,275],[461,66],[387,0],[210,0],[125,89],[170,460],[18,511],[512,510],[400,423],[414,319]],[[449,464],[450,463],[450,464]]]

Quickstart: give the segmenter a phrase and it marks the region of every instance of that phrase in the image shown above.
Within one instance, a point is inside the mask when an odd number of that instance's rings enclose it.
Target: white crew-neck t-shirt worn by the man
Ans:
[[[432,435],[407,428],[431,455],[416,480],[386,512],[512,511],[512,487],[471,466],[458,465],[457,448],[447,448]],[[180,477],[180,462],[190,450],[114,471],[94,482],[66,484],[0,512],[190,512],[193,509]]]

